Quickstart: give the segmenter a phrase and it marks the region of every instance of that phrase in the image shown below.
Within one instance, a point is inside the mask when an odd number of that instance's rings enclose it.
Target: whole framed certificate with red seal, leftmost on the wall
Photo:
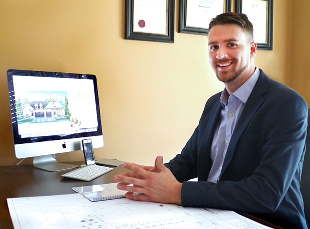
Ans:
[[[174,0],[126,0],[125,39],[174,42]]]

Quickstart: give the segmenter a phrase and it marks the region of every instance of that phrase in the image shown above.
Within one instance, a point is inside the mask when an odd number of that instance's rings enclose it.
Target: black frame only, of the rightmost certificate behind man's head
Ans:
[[[258,49],[263,49],[263,50],[273,50],[274,0],[262,0],[262,1],[267,2],[266,42],[257,43],[257,47],[258,47]],[[242,2],[243,2],[243,0],[236,0],[235,1],[235,11],[238,13],[247,14],[247,12],[242,11]]]

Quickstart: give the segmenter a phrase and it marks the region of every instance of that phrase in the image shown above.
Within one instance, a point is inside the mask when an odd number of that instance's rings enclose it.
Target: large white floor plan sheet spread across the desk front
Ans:
[[[232,211],[80,194],[7,199],[15,229],[268,229]]]

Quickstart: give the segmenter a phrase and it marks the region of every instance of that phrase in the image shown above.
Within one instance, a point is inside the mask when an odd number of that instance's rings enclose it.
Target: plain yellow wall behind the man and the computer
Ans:
[[[97,159],[153,164],[157,155],[168,161],[179,153],[206,100],[224,86],[209,65],[207,37],[177,32],[178,2],[170,44],[124,40],[125,0],[1,0],[0,165],[18,161],[7,69],[96,75],[105,142],[95,149]],[[258,67],[287,85],[291,24],[292,0],[275,0],[274,50],[259,50],[256,58]],[[83,155],[77,151],[59,159],[83,160]]]

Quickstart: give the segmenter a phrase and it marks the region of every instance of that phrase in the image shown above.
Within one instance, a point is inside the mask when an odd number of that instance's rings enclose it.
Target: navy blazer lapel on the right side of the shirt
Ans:
[[[239,120],[236,124],[235,130],[232,134],[229,146],[227,148],[226,156],[223,163],[223,168],[221,175],[227,169],[229,163],[231,162],[238,140],[240,136],[244,133],[248,123],[251,121],[251,118],[264,103],[265,99],[262,97],[268,91],[268,86],[270,78],[260,69],[261,74],[256,85],[253,88],[253,91],[242,111],[242,114],[239,117]]]

